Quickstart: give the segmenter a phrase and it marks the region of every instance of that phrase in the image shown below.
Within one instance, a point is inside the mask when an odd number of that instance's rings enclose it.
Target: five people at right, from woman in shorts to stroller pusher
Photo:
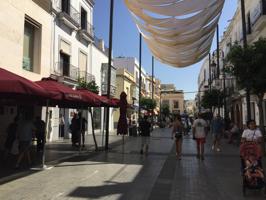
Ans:
[[[210,123],[208,123],[203,119],[201,113],[198,114],[197,119],[195,119],[192,124],[192,135],[193,139],[196,141],[198,159],[204,160],[204,144],[209,132],[213,135],[212,150],[220,152],[220,140],[224,136],[224,133],[228,134],[229,143],[231,143],[232,136],[240,131],[232,122],[227,131],[225,130],[225,126],[226,124],[220,115],[217,115]],[[172,123],[172,139],[175,139],[176,156],[178,159],[181,159],[182,155],[182,139],[184,132],[184,124],[182,123],[181,116],[177,114]],[[244,143],[245,141],[255,141],[258,144],[262,141],[261,131],[256,128],[254,120],[250,120],[247,123],[247,129],[242,133],[241,143]]]

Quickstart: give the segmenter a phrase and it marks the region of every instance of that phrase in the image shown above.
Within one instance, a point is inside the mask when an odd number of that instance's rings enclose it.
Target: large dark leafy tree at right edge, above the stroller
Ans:
[[[263,96],[266,92],[266,39],[260,38],[247,48],[235,44],[230,49],[227,62],[231,65],[227,67],[227,72],[234,75],[237,83],[242,88],[250,89],[258,96],[258,109],[260,129],[264,134],[263,123]]]

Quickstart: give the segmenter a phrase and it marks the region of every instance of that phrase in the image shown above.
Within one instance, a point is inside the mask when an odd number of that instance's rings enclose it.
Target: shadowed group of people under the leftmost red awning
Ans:
[[[19,168],[23,158],[27,158],[31,165],[30,148],[32,140],[37,139],[37,152],[42,152],[45,143],[45,122],[40,116],[35,120],[29,113],[17,115],[9,124],[5,141],[5,155],[7,159],[10,154],[18,154],[15,168]]]

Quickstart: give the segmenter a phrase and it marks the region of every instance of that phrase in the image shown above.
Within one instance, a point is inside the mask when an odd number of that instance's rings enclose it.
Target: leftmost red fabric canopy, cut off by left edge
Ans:
[[[0,94],[2,97],[49,97],[49,93],[36,83],[3,68],[0,68]]]

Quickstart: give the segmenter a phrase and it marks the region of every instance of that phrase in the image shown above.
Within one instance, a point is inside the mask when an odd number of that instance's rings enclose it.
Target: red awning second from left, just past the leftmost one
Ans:
[[[60,94],[60,96],[52,98],[52,100],[56,101],[56,103],[61,107],[98,106],[95,98],[85,95],[78,90],[73,90],[56,80],[44,78],[36,83],[49,92]]]

